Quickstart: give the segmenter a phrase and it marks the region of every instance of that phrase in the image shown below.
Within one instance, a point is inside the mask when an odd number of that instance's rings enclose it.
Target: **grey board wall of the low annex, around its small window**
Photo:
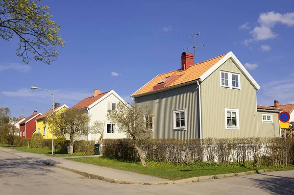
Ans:
[[[262,114],[272,115],[272,122],[262,122]],[[260,137],[280,137],[279,113],[257,111],[257,123]]]

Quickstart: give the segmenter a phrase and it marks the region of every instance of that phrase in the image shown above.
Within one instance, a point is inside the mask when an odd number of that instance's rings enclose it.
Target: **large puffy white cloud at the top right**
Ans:
[[[274,11],[261,13],[258,23],[259,26],[254,27],[254,29],[249,32],[252,38],[246,39],[244,41],[245,45],[251,42],[276,38],[278,34],[272,30],[275,24],[286,24],[289,27],[294,26],[294,12],[286,14],[276,13]]]

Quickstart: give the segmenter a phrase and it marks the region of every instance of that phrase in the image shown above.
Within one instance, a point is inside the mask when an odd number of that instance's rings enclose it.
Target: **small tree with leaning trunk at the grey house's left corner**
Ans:
[[[133,140],[134,147],[140,156],[140,160],[143,167],[146,167],[143,152],[140,146],[149,140],[149,134],[145,132],[146,121],[144,120],[144,112],[150,115],[151,112],[147,108],[140,107],[136,103],[126,105],[123,102],[117,104],[117,108],[114,111],[109,111],[107,118],[113,123],[117,123],[118,131],[125,133]]]

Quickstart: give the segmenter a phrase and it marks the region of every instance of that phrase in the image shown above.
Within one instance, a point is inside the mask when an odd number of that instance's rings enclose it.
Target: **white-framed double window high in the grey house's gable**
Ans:
[[[241,89],[240,74],[221,71],[221,87]]]

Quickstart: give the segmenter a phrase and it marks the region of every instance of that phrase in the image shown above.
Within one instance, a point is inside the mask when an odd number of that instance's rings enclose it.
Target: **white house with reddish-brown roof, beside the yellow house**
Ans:
[[[116,109],[118,102],[123,102],[115,91],[111,90],[108,92],[100,93],[100,90],[94,90],[94,96],[87,97],[75,104],[72,108],[84,109],[90,116],[89,125],[93,125],[95,121],[105,122],[103,139],[118,139],[125,138],[124,133],[117,131],[117,124],[113,124],[107,120],[107,113],[110,110]],[[100,134],[89,134],[88,136],[82,136],[82,140],[95,140],[98,141]]]

